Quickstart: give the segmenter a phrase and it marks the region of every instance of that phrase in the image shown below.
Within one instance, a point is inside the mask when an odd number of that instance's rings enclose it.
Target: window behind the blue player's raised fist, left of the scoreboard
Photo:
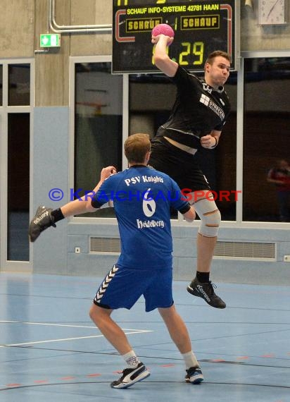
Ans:
[[[75,63],[75,191],[99,182],[104,166],[122,170],[122,76],[111,63]],[[80,216],[80,215],[79,215]],[[115,217],[104,207],[85,217]]]

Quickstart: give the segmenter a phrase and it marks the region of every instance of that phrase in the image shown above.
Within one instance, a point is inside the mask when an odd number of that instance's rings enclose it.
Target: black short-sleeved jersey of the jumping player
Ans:
[[[198,149],[203,135],[222,130],[229,114],[229,98],[224,87],[215,90],[180,66],[172,80],[177,85],[175,104],[156,135]]]

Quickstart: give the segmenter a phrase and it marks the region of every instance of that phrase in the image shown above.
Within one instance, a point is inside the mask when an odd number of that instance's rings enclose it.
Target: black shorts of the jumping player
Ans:
[[[163,137],[153,138],[149,165],[168,174],[182,190],[210,190],[210,185],[196,162],[196,157],[170,144]]]

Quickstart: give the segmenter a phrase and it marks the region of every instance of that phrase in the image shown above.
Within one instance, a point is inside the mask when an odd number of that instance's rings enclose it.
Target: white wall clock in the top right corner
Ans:
[[[258,0],[258,23],[260,25],[285,24],[285,0]]]

